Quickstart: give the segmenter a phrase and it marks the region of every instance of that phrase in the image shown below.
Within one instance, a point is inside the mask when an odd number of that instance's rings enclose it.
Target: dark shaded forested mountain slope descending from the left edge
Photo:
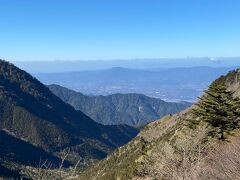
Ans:
[[[8,133],[1,134],[3,139],[11,139],[29,153],[35,154],[36,148],[44,157],[68,152],[70,160],[101,159],[137,134],[129,126],[96,123],[64,103],[37,79],[3,60],[0,60],[0,130]],[[0,146],[7,146],[6,152],[1,151],[1,159],[14,151],[10,145],[0,141]],[[25,162],[22,155],[13,155],[14,161],[38,164]],[[52,159],[51,156],[48,158]]]

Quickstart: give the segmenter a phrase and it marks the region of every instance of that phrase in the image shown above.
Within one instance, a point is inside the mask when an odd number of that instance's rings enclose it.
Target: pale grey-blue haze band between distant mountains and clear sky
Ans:
[[[88,71],[123,67],[128,69],[159,70],[176,67],[234,67],[239,66],[240,57],[188,57],[188,58],[146,58],[115,60],[54,60],[15,61],[18,67],[30,73],[59,73]]]

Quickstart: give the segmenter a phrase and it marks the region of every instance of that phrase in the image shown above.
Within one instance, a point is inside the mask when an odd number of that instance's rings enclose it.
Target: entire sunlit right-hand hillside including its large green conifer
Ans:
[[[239,179],[240,71],[214,81],[196,105],[147,125],[79,179]]]

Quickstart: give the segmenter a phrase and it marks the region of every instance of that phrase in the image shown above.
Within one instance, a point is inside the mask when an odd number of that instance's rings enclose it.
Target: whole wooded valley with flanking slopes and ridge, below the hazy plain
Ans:
[[[230,71],[193,105],[142,94],[87,96],[45,86],[0,60],[0,176],[236,179],[239,82],[239,70]],[[230,167],[236,170],[231,176]]]

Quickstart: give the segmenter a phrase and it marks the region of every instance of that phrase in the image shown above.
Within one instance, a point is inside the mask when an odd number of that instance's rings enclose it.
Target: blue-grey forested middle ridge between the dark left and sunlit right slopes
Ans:
[[[59,85],[48,87],[64,102],[105,125],[127,124],[139,127],[167,114],[175,114],[191,105],[187,102],[165,102],[142,94],[85,96]]]

